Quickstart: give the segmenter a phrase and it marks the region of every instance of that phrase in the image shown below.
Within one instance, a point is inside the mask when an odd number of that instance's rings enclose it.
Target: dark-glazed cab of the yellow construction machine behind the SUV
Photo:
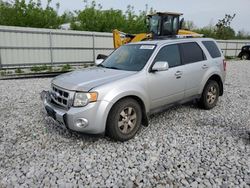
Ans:
[[[180,13],[157,12],[147,16],[147,25],[153,38],[173,37],[178,34],[183,19],[180,21]]]

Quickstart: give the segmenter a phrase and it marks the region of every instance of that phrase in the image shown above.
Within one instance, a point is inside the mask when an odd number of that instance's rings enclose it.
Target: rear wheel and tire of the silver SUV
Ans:
[[[215,107],[219,99],[219,90],[219,84],[216,81],[208,80],[199,101],[201,108],[209,110]]]

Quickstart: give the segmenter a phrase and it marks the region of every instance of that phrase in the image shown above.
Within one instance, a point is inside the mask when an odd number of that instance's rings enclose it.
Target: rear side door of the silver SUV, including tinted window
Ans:
[[[202,78],[210,63],[198,43],[182,43],[180,47],[186,80],[185,98],[188,98],[199,93]]]

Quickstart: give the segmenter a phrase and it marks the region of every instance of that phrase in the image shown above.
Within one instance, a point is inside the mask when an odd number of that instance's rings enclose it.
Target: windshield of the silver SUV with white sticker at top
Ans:
[[[100,66],[110,69],[140,71],[148,62],[155,45],[133,44],[115,50]]]

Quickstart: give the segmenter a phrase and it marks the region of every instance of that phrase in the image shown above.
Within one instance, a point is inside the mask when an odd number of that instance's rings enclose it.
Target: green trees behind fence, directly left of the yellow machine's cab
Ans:
[[[74,22],[71,23],[71,28],[74,30],[111,32],[113,29],[118,29],[126,33],[147,31],[145,23],[147,6],[145,11],[140,11],[137,15],[130,5],[123,12],[115,9],[103,10],[102,6],[97,5],[95,1],[92,1],[90,5],[86,1],[85,3],[84,10],[75,12]]]

